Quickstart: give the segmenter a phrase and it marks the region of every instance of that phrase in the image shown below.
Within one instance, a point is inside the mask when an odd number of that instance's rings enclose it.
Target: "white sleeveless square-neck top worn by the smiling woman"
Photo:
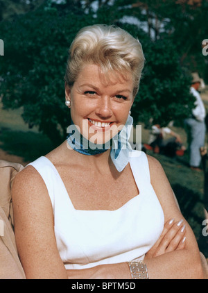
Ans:
[[[49,159],[42,156],[29,164],[48,189],[55,238],[66,269],[143,260],[162,233],[164,213],[150,184],[148,159],[142,151],[133,152],[130,167],[139,195],[117,210],[76,210]]]

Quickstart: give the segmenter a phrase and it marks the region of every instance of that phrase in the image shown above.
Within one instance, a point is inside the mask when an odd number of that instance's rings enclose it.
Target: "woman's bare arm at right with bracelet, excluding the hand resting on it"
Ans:
[[[175,203],[171,185],[168,183],[162,166],[150,156],[148,156],[148,162],[151,183],[164,210],[165,220],[170,217],[174,218],[175,221],[183,219],[183,224],[186,224],[184,249],[167,252],[146,260],[150,278],[202,278],[202,266],[196,237]]]

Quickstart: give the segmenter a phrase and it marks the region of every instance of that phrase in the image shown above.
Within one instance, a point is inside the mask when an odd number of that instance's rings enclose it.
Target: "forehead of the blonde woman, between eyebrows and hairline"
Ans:
[[[78,74],[77,83],[94,83],[101,86],[125,85],[132,88],[132,74],[130,72],[118,72],[116,70],[103,72],[98,65],[85,65]]]

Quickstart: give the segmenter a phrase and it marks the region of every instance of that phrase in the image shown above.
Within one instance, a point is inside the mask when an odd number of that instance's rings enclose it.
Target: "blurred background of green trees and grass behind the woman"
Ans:
[[[68,50],[78,30],[92,24],[120,26],[142,44],[146,65],[132,107],[142,144],[148,144],[151,126],[159,124],[170,126],[188,147],[184,119],[194,107],[192,72],[201,78],[208,112],[207,19],[207,0],[0,0],[0,159],[25,166],[65,139]],[[187,151],[183,156],[146,152],[162,163],[208,258],[203,171],[189,168]]]

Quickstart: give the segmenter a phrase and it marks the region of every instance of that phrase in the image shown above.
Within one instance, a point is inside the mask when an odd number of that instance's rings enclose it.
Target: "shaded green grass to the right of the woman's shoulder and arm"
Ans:
[[[186,134],[184,133],[184,129],[174,127],[172,129],[173,131],[180,133],[186,144]],[[142,130],[142,142],[148,142],[148,130],[146,130],[144,126]],[[164,168],[168,181],[171,183],[171,187],[173,188],[180,205],[182,214],[193,229],[193,233],[196,235],[198,243],[202,246],[205,238],[201,237],[201,231],[203,228],[202,221],[204,219],[204,206],[202,203],[204,196],[203,172],[189,169],[188,156],[169,158],[162,154],[153,153],[153,151],[147,151],[147,153],[150,156],[157,158]]]

